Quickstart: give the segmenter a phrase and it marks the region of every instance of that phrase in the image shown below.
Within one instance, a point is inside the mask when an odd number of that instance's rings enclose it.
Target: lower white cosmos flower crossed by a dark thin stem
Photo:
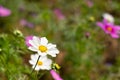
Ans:
[[[29,60],[29,63],[32,64],[32,68],[35,67],[38,57],[38,54],[31,55],[31,60]],[[39,58],[35,70],[50,70],[51,64],[52,60],[48,59],[46,56],[42,56]]]

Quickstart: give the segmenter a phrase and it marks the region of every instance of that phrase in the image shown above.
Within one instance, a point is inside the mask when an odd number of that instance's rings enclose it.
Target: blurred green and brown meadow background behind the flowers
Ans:
[[[29,75],[29,35],[57,45],[63,80],[120,80],[120,39],[96,25],[104,13],[120,25],[120,0],[0,0],[0,80],[53,80]]]

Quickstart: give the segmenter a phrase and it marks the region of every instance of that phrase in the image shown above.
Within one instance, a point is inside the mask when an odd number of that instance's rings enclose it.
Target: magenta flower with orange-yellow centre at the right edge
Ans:
[[[97,26],[105,31],[106,34],[110,34],[113,38],[119,38],[120,26],[103,20],[103,22],[97,22]]]

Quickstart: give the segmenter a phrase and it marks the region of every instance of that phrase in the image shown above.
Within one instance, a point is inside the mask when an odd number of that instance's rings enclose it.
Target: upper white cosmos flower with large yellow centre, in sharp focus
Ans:
[[[29,46],[29,50],[38,52],[41,56],[51,55],[52,57],[56,57],[56,54],[59,53],[59,50],[56,48],[55,44],[48,43],[46,37],[36,37],[33,36],[32,40],[29,40],[31,46]]]

